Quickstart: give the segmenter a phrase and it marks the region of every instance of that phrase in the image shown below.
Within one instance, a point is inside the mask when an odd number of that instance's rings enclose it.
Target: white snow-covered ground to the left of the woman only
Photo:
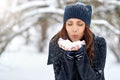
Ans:
[[[15,46],[0,57],[0,80],[53,80],[52,65],[47,66],[47,50],[39,53],[33,45]]]

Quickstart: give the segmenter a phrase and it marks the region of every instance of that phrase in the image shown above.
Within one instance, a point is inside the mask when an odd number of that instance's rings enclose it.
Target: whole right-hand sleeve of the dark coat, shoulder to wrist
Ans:
[[[93,67],[90,64],[88,55],[86,51],[84,50],[84,54],[79,60],[76,60],[77,69],[79,72],[79,75],[81,76],[82,80],[104,80],[104,66],[105,66],[105,60],[106,60],[106,42],[104,38],[99,38],[97,40],[96,47],[98,48],[97,55],[99,55],[99,59],[95,60],[97,61]],[[99,53],[99,54],[98,54]]]

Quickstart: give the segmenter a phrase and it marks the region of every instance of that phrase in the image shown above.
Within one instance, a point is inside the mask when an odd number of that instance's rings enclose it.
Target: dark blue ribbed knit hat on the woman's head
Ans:
[[[65,7],[63,22],[65,23],[70,18],[78,18],[84,21],[86,25],[90,27],[91,15],[92,8],[90,5],[86,5],[84,3],[71,4]]]

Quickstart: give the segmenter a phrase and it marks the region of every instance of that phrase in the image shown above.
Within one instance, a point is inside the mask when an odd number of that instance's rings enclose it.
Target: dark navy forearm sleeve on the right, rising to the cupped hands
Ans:
[[[77,70],[81,80],[96,80],[95,71],[90,65],[86,51],[84,50],[82,53],[80,55],[81,57],[76,60]]]

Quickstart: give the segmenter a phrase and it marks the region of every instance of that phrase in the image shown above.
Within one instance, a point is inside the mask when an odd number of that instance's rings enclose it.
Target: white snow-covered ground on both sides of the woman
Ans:
[[[0,56],[0,80],[54,80],[53,66],[47,65],[47,57],[48,45],[43,53],[39,53],[35,45],[24,45],[24,39],[17,37]],[[120,80],[119,72],[120,64],[116,63],[114,55],[108,51],[106,80]]]

